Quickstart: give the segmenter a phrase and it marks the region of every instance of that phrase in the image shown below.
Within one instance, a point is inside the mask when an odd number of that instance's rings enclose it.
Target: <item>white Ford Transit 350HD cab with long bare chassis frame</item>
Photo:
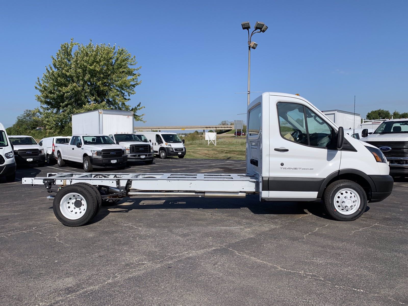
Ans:
[[[247,109],[246,173],[48,173],[22,184],[44,185],[55,216],[81,226],[103,199],[198,196],[321,202],[335,220],[360,217],[367,202],[392,192],[381,151],[350,135],[298,95],[263,93]]]

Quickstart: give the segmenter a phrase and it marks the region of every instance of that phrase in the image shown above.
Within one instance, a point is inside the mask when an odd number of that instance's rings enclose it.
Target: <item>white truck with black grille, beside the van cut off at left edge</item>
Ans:
[[[14,157],[17,164],[37,164],[39,167],[44,166],[44,149],[37,144],[33,137],[27,135],[10,135],[9,140],[13,145]]]

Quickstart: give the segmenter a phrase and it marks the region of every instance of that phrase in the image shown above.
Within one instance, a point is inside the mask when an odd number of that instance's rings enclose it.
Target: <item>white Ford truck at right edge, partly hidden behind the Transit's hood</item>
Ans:
[[[390,162],[391,175],[408,176],[408,119],[388,119],[370,134],[362,133],[361,141],[378,147]]]

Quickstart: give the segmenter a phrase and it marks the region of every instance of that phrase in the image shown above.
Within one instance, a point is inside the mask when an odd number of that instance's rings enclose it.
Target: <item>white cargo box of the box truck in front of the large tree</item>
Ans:
[[[72,115],[72,135],[133,133],[133,111],[95,109]]]

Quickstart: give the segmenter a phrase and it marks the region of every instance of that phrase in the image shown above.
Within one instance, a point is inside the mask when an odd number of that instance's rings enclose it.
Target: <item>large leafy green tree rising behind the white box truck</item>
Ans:
[[[46,67],[42,78],[37,78],[35,98],[40,102],[40,115],[49,131],[60,132],[71,126],[71,115],[94,109],[133,111],[127,102],[141,83],[135,56],[126,49],[106,44],[87,45],[74,42],[61,44],[52,64]]]

